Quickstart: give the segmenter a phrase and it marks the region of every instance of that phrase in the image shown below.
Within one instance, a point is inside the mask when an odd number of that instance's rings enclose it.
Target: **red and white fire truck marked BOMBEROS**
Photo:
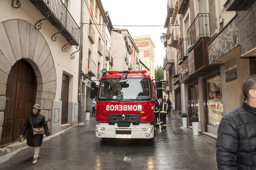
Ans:
[[[162,98],[161,81],[153,82],[143,71],[102,70],[98,92],[91,83],[90,98],[95,105],[96,137],[99,138],[154,138],[154,108]],[[155,88],[156,84],[156,88]]]

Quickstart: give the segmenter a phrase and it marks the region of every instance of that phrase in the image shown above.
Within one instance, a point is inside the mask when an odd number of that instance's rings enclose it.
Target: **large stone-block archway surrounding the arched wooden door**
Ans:
[[[0,39],[0,135],[3,130],[7,77],[12,66],[22,58],[34,69],[37,80],[35,102],[41,105],[41,114],[44,114],[50,126],[52,100],[56,93],[56,71],[46,40],[34,25],[19,19],[0,23]]]

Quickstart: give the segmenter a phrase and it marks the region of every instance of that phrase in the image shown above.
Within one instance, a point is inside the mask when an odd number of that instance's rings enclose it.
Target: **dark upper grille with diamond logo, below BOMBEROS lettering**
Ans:
[[[140,115],[139,114],[109,114],[108,122],[129,122],[129,123],[139,123]]]

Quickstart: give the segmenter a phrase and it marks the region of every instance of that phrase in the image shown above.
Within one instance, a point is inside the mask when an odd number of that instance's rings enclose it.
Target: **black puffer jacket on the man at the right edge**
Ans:
[[[256,108],[245,99],[223,116],[216,146],[218,169],[256,169]]]

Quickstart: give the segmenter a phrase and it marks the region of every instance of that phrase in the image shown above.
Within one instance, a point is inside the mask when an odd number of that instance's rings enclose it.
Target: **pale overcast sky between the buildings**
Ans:
[[[164,23],[167,15],[168,0],[101,0],[108,11],[114,28],[127,28],[132,37],[150,35],[155,47],[155,67],[163,66],[166,54],[160,39],[166,33]],[[127,25],[159,25],[157,27],[128,27]],[[126,26],[126,27],[125,27]]]

